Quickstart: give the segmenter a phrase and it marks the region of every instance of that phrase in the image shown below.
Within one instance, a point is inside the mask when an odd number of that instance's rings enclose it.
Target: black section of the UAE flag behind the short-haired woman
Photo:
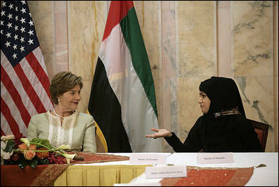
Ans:
[[[110,86],[106,69],[98,57],[91,87],[88,111],[106,139],[108,153],[131,153],[121,118],[121,107]]]

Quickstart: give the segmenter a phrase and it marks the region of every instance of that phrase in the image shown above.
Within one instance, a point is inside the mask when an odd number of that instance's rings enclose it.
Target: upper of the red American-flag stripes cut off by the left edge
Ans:
[[[10,97],[13,98],[13,102],[16,104],[17,109],[20,111],[20,116],[22,117],[24,124],[28,127],[31,116],[27,111],[27,109],[25,108],[22,99],[20,97],[20,94],[17,92],[17,89],[15,88],[15,85],[13,85],[13,82],[10,80],[10,77],[8,76],[5,69],[3,69],[2,65],[1,65],[1,81],[3,85],[5,85],[8,92],[10,93]]]

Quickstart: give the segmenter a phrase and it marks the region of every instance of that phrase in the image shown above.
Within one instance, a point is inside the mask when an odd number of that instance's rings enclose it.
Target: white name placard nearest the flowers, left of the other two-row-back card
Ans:
[[[130,165],[166,165],[166,155],[132,153]]]

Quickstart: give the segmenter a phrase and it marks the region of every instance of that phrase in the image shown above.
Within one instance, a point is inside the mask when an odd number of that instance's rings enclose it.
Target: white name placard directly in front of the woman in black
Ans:
[[[234,163],[233,153],[198,153],[198,164]]]

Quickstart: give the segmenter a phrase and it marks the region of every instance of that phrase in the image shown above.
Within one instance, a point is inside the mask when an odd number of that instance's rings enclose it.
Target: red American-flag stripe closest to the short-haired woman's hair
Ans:
[[[45,74],[45,71],[41,67],[41,64],[38,62],[37,58],[33,53],[29,53],[25,58],[27,62],[29,62],[30,67],[33,69],[36,76],[38,77],[38,80],[43,85],[43,88],[45,88],[45,92],[47,92],[48,97],[50,97],[50,81],[48,79],[48,75]]]

